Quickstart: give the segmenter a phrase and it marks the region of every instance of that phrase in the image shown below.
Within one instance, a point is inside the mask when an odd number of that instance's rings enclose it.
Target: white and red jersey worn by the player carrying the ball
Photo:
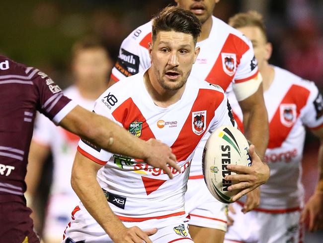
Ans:
[[[122,221],[140,222],[184,215],[184,193],[194,150],[207,132],[223,124],[236,125],[224,91],[189,77],[181,99],[167,108],[154,104],[143,81],[144,72],[110,87],[95,102],[94,112],[148,140],[172,148],[181,173],[170,180],[159,168],[113,155],[81,140],[78,150],[104,165],[97,175],[109,205]]]

